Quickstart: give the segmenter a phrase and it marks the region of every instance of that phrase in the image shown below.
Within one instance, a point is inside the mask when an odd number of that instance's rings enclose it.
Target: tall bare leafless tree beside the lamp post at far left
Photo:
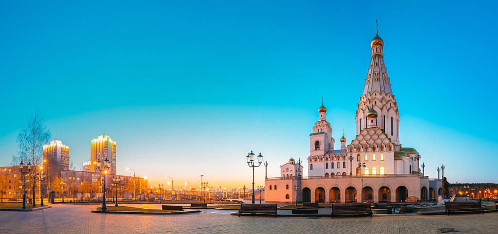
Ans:
[[[21,160],[29,160],[33,163],[31,173],[33,175],[33,207],[36,191],[36,174],[43,160],[43,145],[50,141],[50,131],[45,128],[41,118],[34,114],[27,125],[21,129],[17,135],[17,145],[19,147],[18,157]],[[26,163],[26,161],[24,161]]]

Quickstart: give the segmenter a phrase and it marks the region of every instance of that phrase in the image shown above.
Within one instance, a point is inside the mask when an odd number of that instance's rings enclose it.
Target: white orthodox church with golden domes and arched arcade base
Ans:
[[[441,180],[420,170],[420,155],[399,142],[399,112],[383,60],[384,42],[372,39],[372,60],[356,111],[356,138],[334,149],[327,108],[310,134],[308,176],[290,158],[280,166],[281,176],[266,178],[266,202],[404,202],[426,201],[441,194]],[[409,198],[409,199],[408,199]]]

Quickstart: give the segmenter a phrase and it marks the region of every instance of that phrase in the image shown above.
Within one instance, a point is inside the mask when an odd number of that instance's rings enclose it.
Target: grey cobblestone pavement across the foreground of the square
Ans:
[[[237,217],[214,210],[182,215],[97,214],[95,205],[53,205],[35,212],[0,211],[0,233],[498,233],[498,213],[453,216]]]

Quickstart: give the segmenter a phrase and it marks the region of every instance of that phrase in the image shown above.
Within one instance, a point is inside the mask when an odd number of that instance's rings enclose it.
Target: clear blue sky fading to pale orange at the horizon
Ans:
[[[498,182],[496,2],[113,1],[0,3],[0,163],[36,111],[78,168],[117,141],[118,173],[152,184],[250,185],[309,155],[321,96],[355,137],[375,19],[400,142],[450,182]],[[337,141],[339,142],[339,141]],[[339,144],[336,144],[339,147]],[[306,174],[306,173],[305,173]],[[264,168],[256,169],[262,185]]]

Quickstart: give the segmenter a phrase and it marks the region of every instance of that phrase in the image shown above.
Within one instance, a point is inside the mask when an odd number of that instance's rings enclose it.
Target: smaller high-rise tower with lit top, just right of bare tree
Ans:
[[[63,145],[62,141],[58,140],[43,145],[43,161],[57,165],[61,170],[69,170],[69,146]]]

